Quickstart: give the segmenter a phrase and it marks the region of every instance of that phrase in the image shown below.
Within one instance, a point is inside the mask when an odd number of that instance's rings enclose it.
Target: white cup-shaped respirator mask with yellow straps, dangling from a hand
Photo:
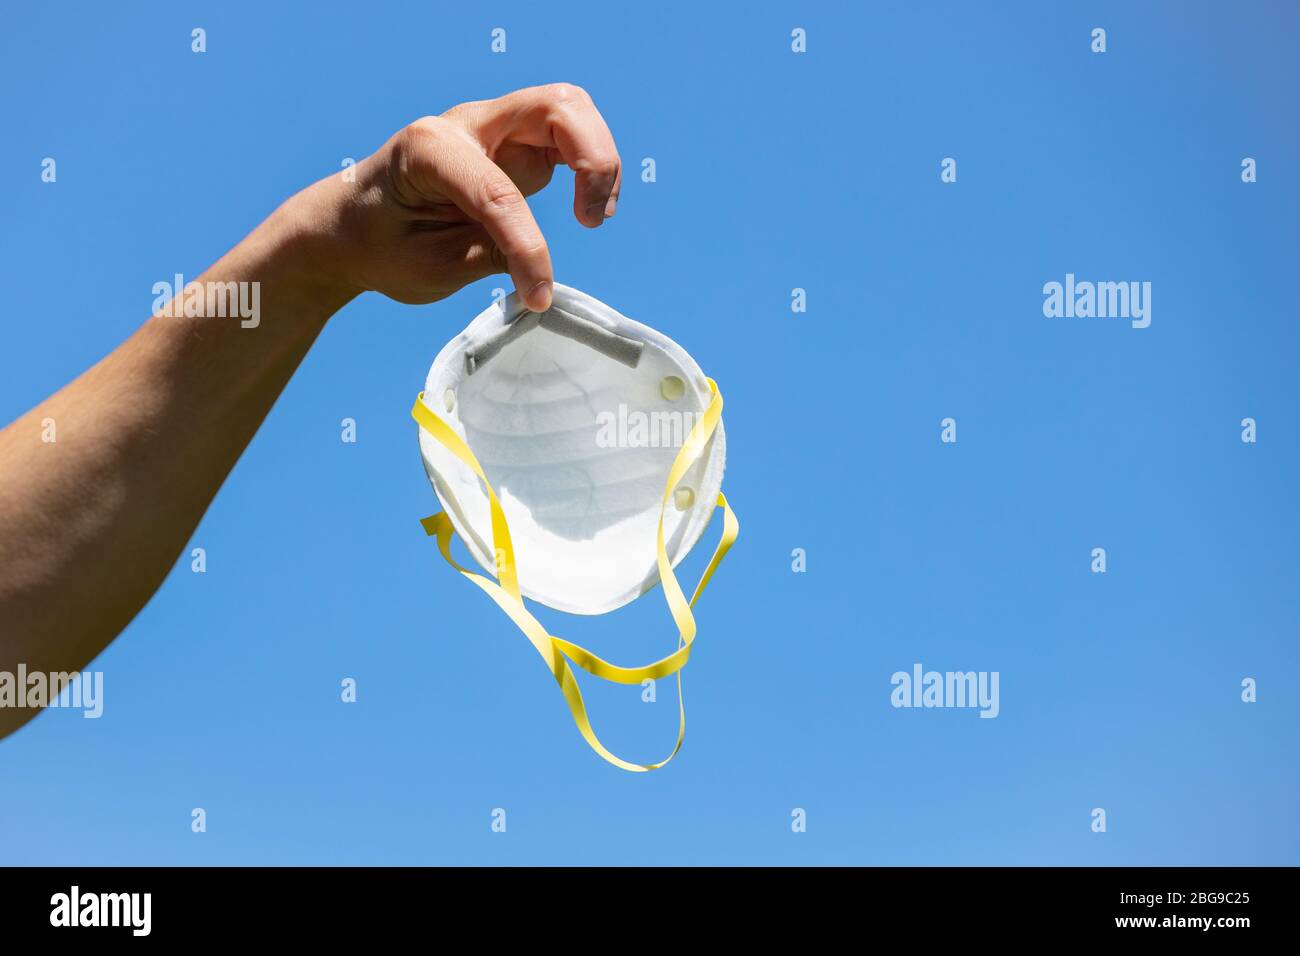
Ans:
[[[425,532],[532,641],[588,744],[625,770],[655,770],[681,747],[680,671],[696,637],[690,609],[740,531],[722,494],[722,408],[716,384],[676,342],[556,285],[546,312],[529,312],[512,294],[469,323],[434,359],[411,410],[443,507],[422,520]],[[673,568],[716,509],[722,538],[688,601]],[[455,562],[452,533],[495,580]],[[549,633],[523,601],[604,614],[656,584],[677,626],[677,649],[640,667]],[[672,753],[658,763],[610,753],[592,730],[569,663],[620,684],[676,674]]]

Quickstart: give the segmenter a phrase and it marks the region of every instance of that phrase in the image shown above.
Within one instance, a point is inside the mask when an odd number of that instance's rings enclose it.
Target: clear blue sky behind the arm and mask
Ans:
[[[682,753],[607,766],[417,524],[411,401],[508,282],[364,297],[203,519],[207,574],[179,561],[95,662],[104,717],[0,743],[0,862],[1300,862],[1295,7],[841,7],[5,13],[0,420],[344,157],[564,79],[632,174],[597,232],[567,170],[534,199],[556,277],[719,381],[744,528],[698,614]],[[1066,272],[1150,281],[1150,328],[1045,319]],[[542,614],[620,661],[672,646],[658,591]],[[914,662],[1000,671],[1001,715],[893,709]],[[616,752],[668,749],[670,684],[584,687]]]

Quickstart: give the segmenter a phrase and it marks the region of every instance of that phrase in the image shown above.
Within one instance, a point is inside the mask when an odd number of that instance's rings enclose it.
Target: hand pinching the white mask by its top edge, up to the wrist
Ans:
[[[576,173],[578,222],[595,228],[614,215],[619,152],[592,98],[568,83],[415,121],[356,166],[337,225],[343,281],[425,303],[508,272],[524,303],[545,311],[551,258],[525,196],[559,163]]]

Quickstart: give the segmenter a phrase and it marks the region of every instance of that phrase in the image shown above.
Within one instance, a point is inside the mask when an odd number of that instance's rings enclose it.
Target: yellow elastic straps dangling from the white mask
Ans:
[[[482,467],[478,464],[464,440],[462,440],[450,425],[434,415],[424,403],[422,392],[416,399],[415,407],[411,410],[412,418],[415,418],[420,427],[437,438],[448,451],[456,455],[456,458],[469,466],[469,468],[484,483],[484,488],[488,490],[488,502],[491,511],[493,546],[497,554],[497,578],[499,583],[462,567],[451,557],[451,536],[454,529],[451,519],[446,515],[446,512],[438,512],[430,518],[422,519],[421,524],[424,525],[425,533],[436,535],[438,538],[438,550],[442,553],[442,557],[447,561],[447,563],[477,584],[503,611],[506,611],[510,619],[515,622],[516,627],[524,632],[524,636],[528,637],[528,640],[537,649],[537,653],[542,656],[543,661],[546,661],[547,667],[551,670],[551,675],[560,685],[560,691],[564,695],[564,700],[568,702],[569,711],[573,715],[573,722],[577,724],[578,732],[582,734],[586,743],[593,750],[601,754],[601,757],[615,766],[623,767],[624,770],[656,770],[672,760],[681,748],[681,741],[686,732],[686,711],[681,698],[680,671],[690,656],[690,645],[696,639],[696,619],[690,609],[703,593],[708,580],[714,575],[714,571],[718,570],[723,557],[731,549],[737,535],[740,533],[740,522],[736,519],[736,514],[727,503],[727,497],[719,493],[718,507],[723,509],[723,535],[718,542],[718,548],[714,550],[712,559],[705,568],[703,575],[701,575],[699,584],[696,587],[696,591],[688,602],[681,592],[681,587],[677,584],[677,578],[672,571],[672,562],[668,559],[668,551],[664,548],[663,516],[673,489],[685,476],[686,470],[690,468],[694,460],[703,451],[710,436],[718,427],[718,421],[722,419],[722,394],[718,392],[716,382],[711,378],[708,380],[708,388],[711,394],[708,407],[690,429],[690,433],[686,436],[686,441],[682,444],[681,449],[679,449],[677,457],[673,459],[672,467],[668,471],[668,480],[666,481],[663,498],[659,502],[659,529],[655,541],[658,550],[659,581],[663,585],[664,598],[668,601],[668,609],[677,624],[677,650],[659,661],[655,661],[654,663],[641,667],[621,667],[619,665],[610,663],[577,644],[572,644],[562,637],[555,637],[547,633],[541,622],[538,622],[537,618],[534,618],[524,606],[523,597],[519,592],[519,575],[515,567],[514,546],[510,541],[510,527],[506,522],[506,514],[500,507],[500,502],[497,498],[497,493],[488,481],[488,476],[484,475]],[[582,704],[582,692],[578,689],[577,680],[566,662],[566,656],[575,665],[589,674],[619,684],[637,684],[646,679],[676,674],[679,727],[677,743],[672,748],[672,753],[658,763],[632,763],[610,753],[610,750],[606,749],[606,747],[595,736],[595,731],[592,728],[592,723],[586,715],[586,706]]]

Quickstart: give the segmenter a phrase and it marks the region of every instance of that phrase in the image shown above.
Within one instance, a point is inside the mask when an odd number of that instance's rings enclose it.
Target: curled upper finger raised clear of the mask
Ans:
[[[604,117],[585,90],[572,83],[534,86],[481,104],[477,116],[488,142],[510,139],[559,151],[575,172],[578,222],[594,228],[614,215],[623,164]]]

